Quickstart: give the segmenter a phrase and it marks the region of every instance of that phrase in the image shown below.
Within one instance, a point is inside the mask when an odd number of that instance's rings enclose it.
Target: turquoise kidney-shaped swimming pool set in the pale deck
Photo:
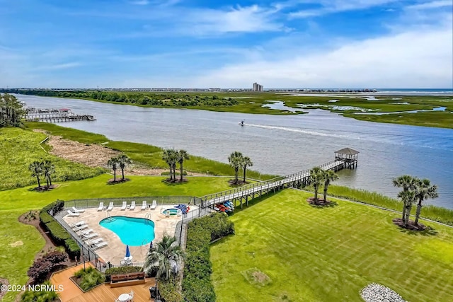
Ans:
[[[154,240],[154,222],[149,219],[111,216],[99,225],[117,234],[125,245],[140,246]]]

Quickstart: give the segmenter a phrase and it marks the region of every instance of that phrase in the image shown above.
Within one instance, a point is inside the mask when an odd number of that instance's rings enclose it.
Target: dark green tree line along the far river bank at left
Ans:
[[[117,93],[113,91],[13,91],[26,95],[55,96],[59,98],[84,98],[105,100],[115,103],[139,105],[187,107],[187,106],[232,106],[239,102],[233,98],[219,98],[217,95],[188,95],[176,93]]]

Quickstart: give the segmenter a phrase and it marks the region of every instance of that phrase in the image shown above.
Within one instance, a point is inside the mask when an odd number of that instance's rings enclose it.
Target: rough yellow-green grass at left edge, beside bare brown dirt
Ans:
[[[101,168],[88,168],[48,154],[40,146],[45,138],[45,134],[19,128],[0,129],[0,190],[36,184],[28,165],[43,159],[49,159],[55,165],[54,182],[91,178],[104,173]],[[45,183],[43,178],[41,180]]]

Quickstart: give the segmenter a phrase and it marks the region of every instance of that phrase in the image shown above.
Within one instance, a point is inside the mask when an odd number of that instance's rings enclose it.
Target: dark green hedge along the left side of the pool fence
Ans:
[[[64,208],[64,201],[57,200],[52,204],[47,204],[40,211],[40,222],[45,230],[49,231],[50,237],[57,245],[64,245],[66,252],[71,259],[80,257],[80,248],[76,241],[71,238],[71,235],[62,227],[55,218],[49,214],[49,211],[55,215]]]

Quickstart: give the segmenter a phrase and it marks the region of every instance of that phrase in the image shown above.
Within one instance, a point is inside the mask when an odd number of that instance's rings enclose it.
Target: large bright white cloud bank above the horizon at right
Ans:
[[[400,33],[277,62],[231,64],[193,87],[442,88],[452,86],[452,28]]]

